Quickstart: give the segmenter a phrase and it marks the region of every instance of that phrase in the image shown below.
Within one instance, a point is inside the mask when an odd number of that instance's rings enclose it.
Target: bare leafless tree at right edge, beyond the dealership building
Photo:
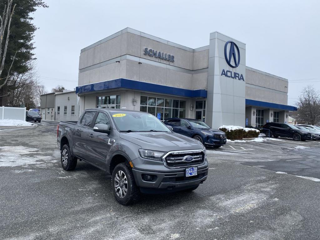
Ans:
[[[313,86],[303,88],[298,101],[298,111],[292,114],[298,123],[318,124],[320,118],[320,92]]]

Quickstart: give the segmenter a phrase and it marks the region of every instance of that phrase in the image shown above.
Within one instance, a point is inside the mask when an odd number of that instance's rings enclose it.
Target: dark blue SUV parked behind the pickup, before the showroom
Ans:
[[[226,134],[212,129],[200,120],[188,118],[168,118],[164,124],[172,126],[173,132],[180,133],[202,142],[205,146],[220,148],[226,144]]]

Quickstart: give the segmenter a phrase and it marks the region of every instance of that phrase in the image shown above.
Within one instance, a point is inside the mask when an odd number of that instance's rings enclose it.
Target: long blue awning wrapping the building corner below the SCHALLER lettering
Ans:
[[[76,87],[76,94],[93,93],[96,91],[126,88],[131,90],[156,92],[161,94],[176,95],[187,98],[206,98],[207,90],[189,90],[177,87],[164,86],[153,83],[139,82],[126,78],[118,78],[100,83],[92,83]]]

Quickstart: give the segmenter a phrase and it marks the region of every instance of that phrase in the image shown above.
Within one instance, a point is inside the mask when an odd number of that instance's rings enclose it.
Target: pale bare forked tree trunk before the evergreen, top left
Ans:
[[[9,42],[9,36],[10,36],[10,25],[11,25],[11,20],[12,20],[12,15],[14,12],[14,8],[16,7],[17,4],[13,5],[13,8],[11,10],[11,6],[12,6],[12,1],[13,0],[8,0],[8,4],[4,6],[4,11],[2,14],[1,18],[1,25],[0,25],[0,61],[1,61],[1,65],[0,65],[0,76],[2,74],[2,71],[4,69],[4,61],[5,61],[5,57],[7,54],[7,48],[8,48],[8,42]],[[8,25],[7,25],[8,24]],[[2,50],[2,42],[4,39],[4,32],[5,29],[7,29],[7,37],[5,39],[5,44],[4,44],[4,50]],[[0,89],[7,83],[8,78],[10,76],[10,70],[13,64],[13,61],[16,57],[17,52],[14,54],[13,58],[12,58],[12,62],[10,65],[10,68],[8,69],[8,74],[5,78],[0,78],[0,80],[4,79],[3,84],[0,84]]]

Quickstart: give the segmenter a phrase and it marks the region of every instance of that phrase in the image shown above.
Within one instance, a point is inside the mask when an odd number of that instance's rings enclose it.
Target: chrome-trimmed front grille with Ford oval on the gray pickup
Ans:
[[[188,161],[188,156],[193,159]],[[204,151],[203,150],[187,150],[187,151],[171,151],[163,157],[164,165],[168,168],[179,168],[194,165],[201,165],[204,163]]]

